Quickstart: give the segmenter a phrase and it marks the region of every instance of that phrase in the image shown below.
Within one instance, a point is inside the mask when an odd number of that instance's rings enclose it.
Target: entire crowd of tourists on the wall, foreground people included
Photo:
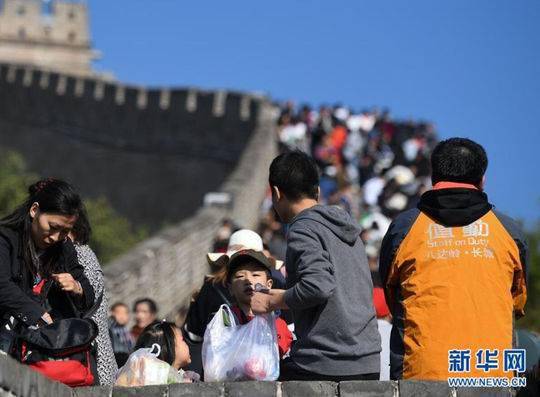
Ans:
[[[259,228],[224,220],[178,323],[148,297],[109,307],[79,194],[30,186],[0,220],[0,350],[70,386],[537,371],[514,343],[527,244],[488,201],[481,145],[291,104],[276,139]]]

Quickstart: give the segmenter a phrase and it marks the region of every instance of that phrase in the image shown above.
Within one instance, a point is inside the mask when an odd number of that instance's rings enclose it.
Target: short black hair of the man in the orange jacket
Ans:
[[[467,138],[450,138],[433,149],[431,181],[479,185],[487,165],[487,154],[481,145]]]

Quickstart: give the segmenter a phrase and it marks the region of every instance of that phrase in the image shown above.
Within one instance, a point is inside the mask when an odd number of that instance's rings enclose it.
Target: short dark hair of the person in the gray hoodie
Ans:
[[[277,156],[270,164],[270,186],[276,186],[289,200],[317,199],[319,170],[315,160],[295,150]]]

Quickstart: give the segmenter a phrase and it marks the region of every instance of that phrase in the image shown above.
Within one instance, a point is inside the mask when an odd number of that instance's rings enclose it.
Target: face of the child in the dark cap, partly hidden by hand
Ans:
[[[266,268],[257,262],[240,265],[231,277],[231,295],[238,303],[249,305],[256,284],[272,288],[272,279],[268,278]]]

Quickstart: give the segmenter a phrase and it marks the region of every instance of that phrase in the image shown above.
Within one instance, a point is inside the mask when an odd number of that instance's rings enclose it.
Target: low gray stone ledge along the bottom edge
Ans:
[[[527,392],[519,395],[529,396]],[[52,382],[25,365],[0,355],[0,397],[432,397],[514,396],[510,389],[452,389],[445,382],[226,382],[146,387],[84,387],[71,389]]]

